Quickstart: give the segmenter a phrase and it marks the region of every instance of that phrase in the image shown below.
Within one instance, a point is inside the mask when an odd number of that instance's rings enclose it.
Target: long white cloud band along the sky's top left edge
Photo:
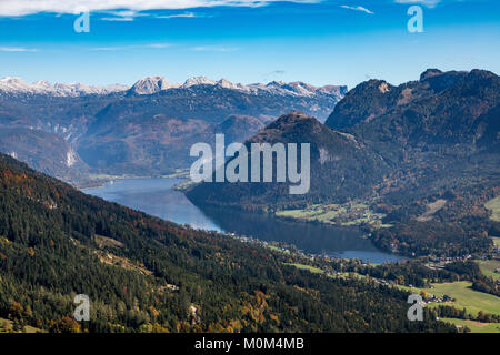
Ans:
[[[291,1],[297,3],[318,3],[322,0],[0,0],[0,16],[13,17],[39,12],[79,13],[81,9],[104,11],[126,9],[179,10],[201,7],[259,7],[271,2]]]

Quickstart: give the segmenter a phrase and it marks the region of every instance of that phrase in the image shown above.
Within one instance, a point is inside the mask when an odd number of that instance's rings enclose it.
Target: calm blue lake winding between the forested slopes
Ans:
[[[377,250],[356,229],[283,221],[270,215],[193,205],[183,193],[172,190],[180,179],[123,179],[86,193],[140,210],[163,220],[197,229],[236,233],[262,241],[293,244],[307,253],[359,257],[372,263],[404,257]]]

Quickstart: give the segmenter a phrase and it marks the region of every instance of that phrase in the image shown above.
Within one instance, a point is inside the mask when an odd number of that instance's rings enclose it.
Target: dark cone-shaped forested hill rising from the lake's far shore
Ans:
[[[382,182],[388,165],[351,135],[332,131],[312,116],[292,112],[280,116],[246,142],[310,144],[310,190],[289,193],[290,183],[202,183],[188,192],[197,203],[234,205],[243,209],[272,210],[303,206],[308,203],[342,203],[371,192]],[[298,154],[300,160],[300,154]],[[230,160],[229,160],[230,161]],[[249,171],[251,171],[249,162]],[[276,166],[276,156],[274,156]],[[276,181],[276,174],[274,174]]]

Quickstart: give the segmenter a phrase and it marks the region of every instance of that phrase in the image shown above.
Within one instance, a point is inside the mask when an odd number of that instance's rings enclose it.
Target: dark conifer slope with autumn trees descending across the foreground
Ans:
[[[434,332],[407,294],[86,195],[0,155],[0,317],[53,332]],[[91,321],[71,320],[76,294]]]

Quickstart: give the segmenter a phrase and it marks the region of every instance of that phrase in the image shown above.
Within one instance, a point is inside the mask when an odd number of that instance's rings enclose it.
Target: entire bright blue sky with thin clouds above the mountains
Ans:
[[[73,30],[79,4],[89,33]],[[411,4],[422,33],[407,30]],[[29,82],[397,84],[427,68],[500,73],[499,39],[498,0],[0,0],[0,77]]]

